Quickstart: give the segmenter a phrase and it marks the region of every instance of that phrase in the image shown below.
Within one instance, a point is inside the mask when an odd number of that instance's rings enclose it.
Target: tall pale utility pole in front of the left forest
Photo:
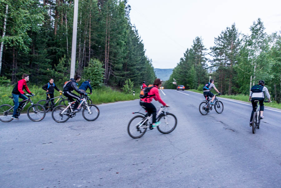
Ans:
[[[77,20],[78,20],[78,0],[74,0],[70,78],[74,78],[74,74],[75,74]]]

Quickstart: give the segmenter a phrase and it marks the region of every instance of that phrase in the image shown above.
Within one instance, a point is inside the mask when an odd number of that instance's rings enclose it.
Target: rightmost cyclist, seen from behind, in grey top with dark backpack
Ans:
[[[264,85],[265,85],[264,80],[260,80],[259,84],[254,85],[254,86],[261,86],[261,87],[252,86],[252,89],[250,91],[249,101],[252,102],[252,106],[253,106],[253,110],[252,110],[252,114],[251,114],[251,118],[250,118],[250,126],[252,126],[252,124],[253,124],[252,119],[253,119],[254,112],[256,111],[257,103],[255,103],[255,100],[259,101],[260,119],[264,119],[264,93],[265,93],[266,97],[268,98],[268,100],[271,101],[268,89]],[[253,87],[254,87],[254,89],[253,89]]]

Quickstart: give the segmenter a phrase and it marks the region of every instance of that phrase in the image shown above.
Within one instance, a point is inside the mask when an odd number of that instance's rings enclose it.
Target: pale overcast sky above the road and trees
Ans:
[[[233,23],[244,34],[250,34],[249,28],[258,18],[268,34],[281,30],[280,0],[128,0],[128,4],[131,23],[154,68],[175,68],[196,36],[209,49],[214,37]]]

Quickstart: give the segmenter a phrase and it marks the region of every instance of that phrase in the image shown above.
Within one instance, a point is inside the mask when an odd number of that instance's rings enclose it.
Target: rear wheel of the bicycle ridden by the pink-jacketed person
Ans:
[[[142,125],[142,127],[145,128],[139,127],[144,120],[144,116],[136,115],[129,121],[127,131],[132,138],[141,138],[145,134],[145,131],[147,129],[147,122]]]

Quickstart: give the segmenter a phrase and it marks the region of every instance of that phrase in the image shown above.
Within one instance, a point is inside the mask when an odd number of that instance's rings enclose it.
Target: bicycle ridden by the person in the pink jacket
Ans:
[[[127,131],[132,138],[141,138],[146,131],[154,129],[152,127],[152,123],[149,122],[149,120],[152,118],[152,114],[150,116],[148,113],[142,114],[140,112],[133,112],[133,114],[141,115],[136,115],[133,117],[128,124]],[[177,126],[177,118],[174,114],[166,112],[165,106],[163,105],[161,105],[160,109],[157,110],[156,119],[156,121],[161,122],[157,126],[157,129],[160,133],[168,134],[175,130],[175,127]],[[149,130],[147,130],[147,128],[149,128]]]

